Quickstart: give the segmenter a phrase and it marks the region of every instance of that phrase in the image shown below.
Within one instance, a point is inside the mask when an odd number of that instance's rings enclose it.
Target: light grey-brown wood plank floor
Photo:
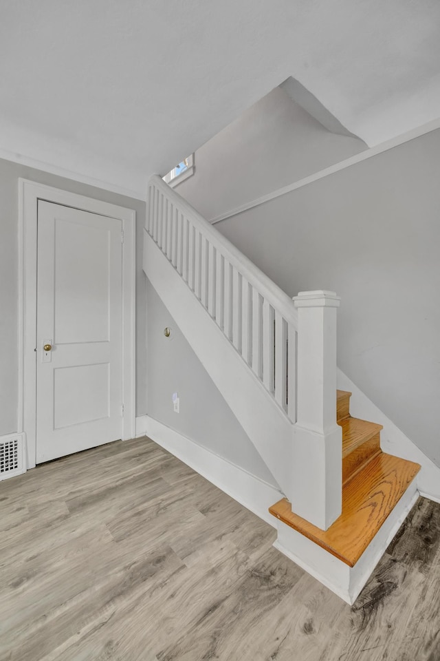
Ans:
[[[149,439],[0,483],[1,661],[439,661],[440,505],[353,607]]]

